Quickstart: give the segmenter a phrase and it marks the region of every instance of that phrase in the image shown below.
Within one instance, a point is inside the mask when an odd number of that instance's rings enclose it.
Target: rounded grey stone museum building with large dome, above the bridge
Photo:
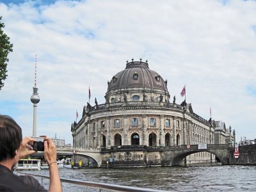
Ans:
[[[127,61],[125,69],[108,81],[104,97],[104,104],[97,104],[96,98],[93,106],[87,103],[81,120],[71,125],[74,147],[169,147],[217,141],[214,121],[196,115],[186,100],[170,101],[167,80],[151,70],[148,61]],[[222,134],[229,138],[228,131]],[[233,135],[230,138],[234,140]],[[192,156],[195,160],[197,155]],[[213,159],[208,153],[202,156]]]

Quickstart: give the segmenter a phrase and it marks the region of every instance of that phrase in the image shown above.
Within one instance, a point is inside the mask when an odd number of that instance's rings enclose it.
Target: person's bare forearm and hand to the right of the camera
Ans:
[[[44,139],[44,159],[49,165],[49,174],[50,174],[50,186],[49,191],[58,192],[62,191],[59,168],[56,163],[57,151],[55,145],[52,143],[50,138]]]

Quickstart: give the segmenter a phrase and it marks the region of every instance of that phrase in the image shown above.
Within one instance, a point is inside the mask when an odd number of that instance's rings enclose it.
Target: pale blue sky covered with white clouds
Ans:
[[[76,111],[105,102],[108,81],[126,61],[148,60],[186,101],[209,120],[236,129],[236,140],[256,138],[256,1],[6,1],[4,33],[13,52],[0,90],[0,114],[24,136],[33,133],[35,81],[40,96],[38,135],[72,143]]]

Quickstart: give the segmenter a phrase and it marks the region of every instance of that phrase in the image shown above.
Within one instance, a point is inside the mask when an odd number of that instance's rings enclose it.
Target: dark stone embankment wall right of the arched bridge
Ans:
[[[256,164],[256,144],[239,146],[239,157],[234,157],[234,148],[230,149],[229,164]]]

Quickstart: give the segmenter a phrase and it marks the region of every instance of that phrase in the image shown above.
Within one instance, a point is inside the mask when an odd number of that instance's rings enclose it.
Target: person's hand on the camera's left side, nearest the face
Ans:
[[[35,139],[31,137],[23,138],[19,148],[19,159],[23,159],[24,157],[35,153],[35,150],[31,147],[33,146],[33,141],[35,141]]]

